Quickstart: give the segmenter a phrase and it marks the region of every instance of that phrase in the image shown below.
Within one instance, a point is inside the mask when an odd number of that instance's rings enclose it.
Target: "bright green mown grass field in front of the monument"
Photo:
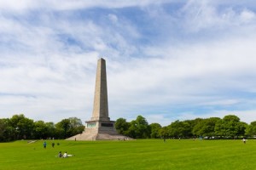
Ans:
[[[47,140],[0,143],[0,169],[256,169],[256,140]],[[60,143],[60,145],[57,145]],[[59,151],[73,157],[56,157]]]

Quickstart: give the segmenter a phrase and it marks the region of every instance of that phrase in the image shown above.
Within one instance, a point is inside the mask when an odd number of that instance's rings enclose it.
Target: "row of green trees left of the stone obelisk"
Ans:
[[[61,122],[44,122],[27,118],[23,114],[0,119],[0,142],[19,139],[67,139],[82,133],[84,125],[77,117],[70,117]]]

